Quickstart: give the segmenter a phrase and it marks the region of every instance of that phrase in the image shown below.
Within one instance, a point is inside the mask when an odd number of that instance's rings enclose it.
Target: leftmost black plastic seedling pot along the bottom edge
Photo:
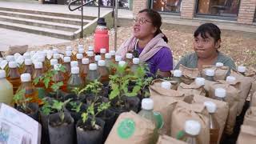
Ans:
[[[55,126],[55,123],[60,122],[60,113],[50,114],[48,121],[48,129],[50,136],[50,144],[70,144],[74,143],[74,119],[70,114],[64,113],[64,123]]]

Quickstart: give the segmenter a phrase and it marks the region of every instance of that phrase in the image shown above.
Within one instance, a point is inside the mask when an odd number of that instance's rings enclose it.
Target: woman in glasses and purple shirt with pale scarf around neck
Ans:
[[[117,54],[125,58],[126,53],[134,54],[140,62],[146,62],[151,74],[169,77],[173,70],[173,56],[168,39],[160,27],[162,18],[155,10],[145,9],[134,18],[133,36],[123,42]]]

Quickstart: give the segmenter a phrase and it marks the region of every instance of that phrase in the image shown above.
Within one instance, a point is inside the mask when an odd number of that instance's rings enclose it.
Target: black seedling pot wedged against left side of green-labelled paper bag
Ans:
[[[97,117],[101,118],[105,122],[102,138],[102,142],[105,142],[106,138],[110,134],[112,127],[114,126],[115,114],[110,110],[104,110],[99,113]]]

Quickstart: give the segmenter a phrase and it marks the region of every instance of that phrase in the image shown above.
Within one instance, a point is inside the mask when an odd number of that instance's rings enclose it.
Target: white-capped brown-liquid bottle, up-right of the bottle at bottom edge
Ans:
[[[214,117],[214,113],[217,110],[217,106],[214,102],[206,101],[204,102],[206,109],[209,112],[209,120],[210,120],[210,144],[218,143],[218,133],[219,133],[219,125]]]

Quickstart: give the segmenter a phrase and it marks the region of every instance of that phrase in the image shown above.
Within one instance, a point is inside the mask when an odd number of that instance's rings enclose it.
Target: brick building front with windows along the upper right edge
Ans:
[[[151,8],[180,18],[222,19],[256,25],[256,0],[133,0],[133,14]]]

